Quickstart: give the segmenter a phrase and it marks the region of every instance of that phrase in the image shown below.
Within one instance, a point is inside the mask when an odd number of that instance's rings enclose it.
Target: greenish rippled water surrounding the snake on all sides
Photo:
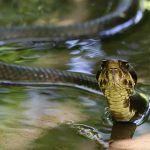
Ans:
[[[117,1],[1,0],[1,26],[67,25],[97,18],[114,10]],[[75,9],[76,8],[76,9]],[[78,39],[56,47],[37,45],[18,50],[18,45],[0,47],[0,60],[30,66],[96,73],[107,56],[127,59],[137,71],[138,88],[150,94],[150,14],[128,31],[109,40]],[[0,87],[0,149],[96,150],[100,145],[66,125],[74,121],[100,130],[109,139],[104,124],[103,96],[80,89],[52,86]],[[135,136],[150,131],[149,120]]]

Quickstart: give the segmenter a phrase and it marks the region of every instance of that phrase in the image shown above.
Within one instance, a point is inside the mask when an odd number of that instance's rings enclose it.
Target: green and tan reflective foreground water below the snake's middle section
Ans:
[[[105,105],[104,101],[99,104],[101,98],[98,95],[65,87],[1,88],[0,95],[0,145],[3,149],[11,149],[12,143],[14,149],[45,149],[49,146],[76,149],[81,145],[86,149],[86,140],[63,124],[88,122],[99,127]],[[92,145],[90,147],[96,146]]]

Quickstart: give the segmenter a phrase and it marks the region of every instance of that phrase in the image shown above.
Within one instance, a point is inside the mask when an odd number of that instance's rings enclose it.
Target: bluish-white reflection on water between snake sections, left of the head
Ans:
[[[71,51],[70,61],[68,66],[70,71],[91,73],[95,65],[95,60],[100,60],[104,55],[104,51],[101,49],[99,40],[86,40],[83,42],[72,41],[67,42],[68,47],[73,49]],[[94,61],[93,61],[94,60]]]

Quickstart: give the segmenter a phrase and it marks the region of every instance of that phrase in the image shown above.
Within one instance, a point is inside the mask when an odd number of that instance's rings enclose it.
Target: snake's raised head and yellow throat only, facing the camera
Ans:
[[[129,64],[121,60],[105,60],[101,67],[97,80],[107,98],[112,117],[116,121],[131,120],[136,113],[130,107],[130,96],[134,92],[135,80]]]

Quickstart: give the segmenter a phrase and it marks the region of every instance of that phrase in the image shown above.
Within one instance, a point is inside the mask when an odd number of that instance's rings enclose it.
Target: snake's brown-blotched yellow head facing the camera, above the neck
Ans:
[[[131,93],[137,82],[133,67],[126,60],[104,59],[96,79],[102,92],[110,86],[125,88]]]

